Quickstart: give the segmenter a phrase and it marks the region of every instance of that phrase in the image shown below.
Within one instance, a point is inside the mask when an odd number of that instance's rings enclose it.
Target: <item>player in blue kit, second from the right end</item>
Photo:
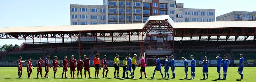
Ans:
[[[227,59],[227,56],[224,56],[223,59],[221,60],[222,63],[222,70],[223,70],[223,79],[226,79],[227,77],[227,71],[228,71],[228,66],[229,66],[229,61]]]

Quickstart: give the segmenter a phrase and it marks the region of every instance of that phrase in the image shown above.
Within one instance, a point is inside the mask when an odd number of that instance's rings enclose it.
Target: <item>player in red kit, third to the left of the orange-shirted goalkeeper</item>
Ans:
[[[72,72],[73,72],[73,78],[75,78],[75,71],[76,71],[76,59],[74,58],[74,55],[71,56],[71,59],[69,59],[69,65],[70,66],[70,78],[72,78]]]

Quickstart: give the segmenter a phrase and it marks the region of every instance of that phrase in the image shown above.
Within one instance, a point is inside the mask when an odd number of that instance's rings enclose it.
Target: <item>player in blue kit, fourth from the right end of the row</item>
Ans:
[[[208,64],[209,64],[209,60],[207,60],[206,56],[204,57],[204,60],[203,60],[203,62],[201,64],[203,64],[203,75],[204,75],[203,79],[205,79],[205,74],[204,73],[206,73],[206,79],[208,79]]]

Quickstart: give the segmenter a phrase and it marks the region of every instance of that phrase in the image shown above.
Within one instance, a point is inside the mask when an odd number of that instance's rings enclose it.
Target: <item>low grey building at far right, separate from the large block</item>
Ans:
[[[216,17],[216,21],[255,21],[256,11],[232,11]]]

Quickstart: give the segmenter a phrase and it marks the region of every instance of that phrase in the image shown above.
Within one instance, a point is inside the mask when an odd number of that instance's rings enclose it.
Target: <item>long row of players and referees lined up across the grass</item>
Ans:
[[[100,63],[100,58],[99,58],[100,54],[96,54],[96,57],[94,58],[94,68],[95,68],[95,78],[100,78],[99,77],[99,70],[101,68],[103,68],[103,72],[102,72],[102,77],[104,78],[104,73],[105,73],[105,70],[106,70],[106,74],[105,74],[105,77],[108,77],[107,74],[108,74],[108,66],[107,66],[107,56],[104,55],[104,58],[102,59],[102,62]],[[220,54],[217,54],[217,64],[216,64],[216,67],[217,67],[217,72],[219,74],[219,80],[220,80],[220,67],[221,67],[221,64],[222,64],[222,67],[223,67],[223,79],[226,79],[226,76],[227,76],[227,70],[228,70],[228,66],[229,66],[229,61],[227,59],[227,56],[223,56],[224,58],[221,59],[220,57]],[[137,58],[137,55],[134,54],[134,57],[133,58],[130,58],[130,54],[127,54],[127,58],[124,57],[124,60],[123,60],[123,65],[122,65],[122,68],[123,68],[123,77],[122,78],[125,78],[125,79],[129,79],[129,75],[128,75],[128,71],[130,72],[130,75],[131,75],[131,79],[134,78],[134,71],[135,71],[135,67],[136,65],[141,66],[140,68],[140,78],[139,79],[142,79],[142,72],[144,73],[145,75],[145,78],[147,78],[147,74],[146,74],[146,71],[145,71],[145,68],[146,68],[146,62],[145,62],[145,58],[143,58],[142,55],[140,55],[140,64],[136,63],[136,58]],[[191,69],[190,69],[190,72],[191,72],[191,78],[190,79],[195,79],[195,59],[194,59],[194,56],[191,55],[190,58],[192,59],[191,62],[188,62],[187,59],[185,59],[184,57],[182,57],[181,59],[184,61],[184,72],[186,74],[186,77],[184,79],[188,79],[188,63],[191,64]],[[22,75],[22,62],[26,62],[26,61],[21,61],[22,57],[19,57],[18,61],[17,61],[17,64],[18,64],[18,76],[19,78],[21,78],[21,75]],[[38,61],[36,61],[36,65],[37,65],[37,78],[39,73],[41,75],[41,78],[42,77],[42,63],[44,62],[44,67],[45,67],[45,78],[49,78],[48,77],[48,72],[49,72],[49,59],[50,57],[47,57],[44,61],[41,59],[41,58],[38,58]],[[55,74],[57,72],[57,66],[60,68],[59,64],[58,64],[58,61],[57,61],[58,57],[55,56],[54,59],[52,60],[51,62],[51,66],[50,68],[53,68],[53,71],[54,71],[54,78],[55,77]],[[28,72],[28,78],[30,78],[30,74],[32,73],[32,69],[31,67],[34,69],[33,65],[31,64],[31,59],[28,58],[28,61],[27,61],[27,72]],[[156,55],[156,64],[154,64],[156,67],[155,67],[155,70],[154,70],[154,73],[153,73],[153,76],[151,78],[154,78],[155,76],[155,73],[156,71],[159,71],[161,73],[161,76],[162,76],[162,79],[166,78],[166,74],[167,74],[167,78],[169,78],[169,66],[171,67],[171,71],[172,71],[172,79],[175,79],[175,60],[174,60],[174,56],[171,56],[171,62],[170,62],[170,65],[169,65],[169,61],[167,59],[167,56],[164,56],[164,76],[163,76],[163,73],[161,71],[161,63],[160,63],[160,59],[159,59],[159,56]],[[114,78],[120,78],[119,77],[119,70],[120,69],[120,66],[119,66],[119,55],[116,54],[116,57],[114,58],[114,68],[115,68],[115,72],[114,72]],[[206,73],[206,79],[208,79],[208,63],[209,61],[207,60],[207,57],[205,56],[204,57],[204,60],[202,61],[201,64],[203,64],[203,76],[205,79],[205,73]],[[67,78],[67,74],[66,72],[68,71],[68,68],[70,68],[70,78],[75,78],[75,71],[77,70],[77,78],[79,78],[79,72],[80,72],[80,76],[81,78],[82,77],[82,69],[84,68],[84,76],[86,78],[86,72],[88,72],[89,74],[89,78],[90,77],[90,60],[89,58],[87,58],[86,55],[84,55],[84,59],[82,60],[81,57],[79,57],[78,60],[76,60],[74,58],[74,56],[72,55],[71,56],[71,59],[69,59],[69,61],[67,60],[67,57],[64,56],[64,59],[62,60],[61,62],[62,64],[62,68],[63,68],[63,72],[62,72],[62,77],[63,78],[63,75],[65,74],[65,78]],[[101,66],[102,64],[102,66]],[[153,65],[153,66],[154,66]],[[241,78],[240,79],[243,79],[243,68],[244,68],[244,58],[243,58],[243,54],[240,54],[240,60],[239,60],[239,66],[238,66],[238,73],[241,75]],[[117,71],[117,76],[116,76],[116,71]],[[73,72],[73,73],[72,73]],[[126,72],[126,77],[125,77],[125,72]],[[73,74],[73,76],[72,76]]]

